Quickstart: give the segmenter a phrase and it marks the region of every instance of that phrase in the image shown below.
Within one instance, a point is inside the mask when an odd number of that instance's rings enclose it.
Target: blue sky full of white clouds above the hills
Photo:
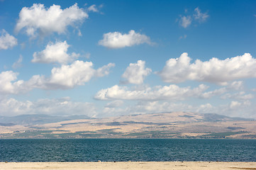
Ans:
[[[0,115],[256,118],[256,1],[0,1]]]

